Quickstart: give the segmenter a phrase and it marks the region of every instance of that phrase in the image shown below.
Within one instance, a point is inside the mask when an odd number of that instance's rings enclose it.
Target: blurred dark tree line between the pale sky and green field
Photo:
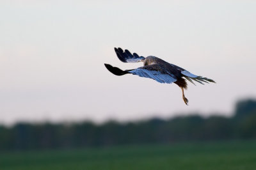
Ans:
[[[237,102],[234,116],[180,116],[136,123],[109,121],[0,126],[0,150],[79,148],[118,144],[175,143],[256,138],[256,100]]]

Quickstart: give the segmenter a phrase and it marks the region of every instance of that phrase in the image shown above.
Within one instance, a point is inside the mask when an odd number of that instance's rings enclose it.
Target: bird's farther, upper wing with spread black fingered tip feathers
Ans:
[[[131,54],[129,50],[122,50],[121,48],[115,48],[115,52],[117,57],[124,63],[137,63],[144,61],[145,59],[143,56],[139,56],[135,52]]]

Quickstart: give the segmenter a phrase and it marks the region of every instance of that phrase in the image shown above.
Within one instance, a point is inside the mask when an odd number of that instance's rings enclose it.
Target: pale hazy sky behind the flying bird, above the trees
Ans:
[[[0,1],[0,123],[230,116],[256,97],[256,1]],[[216,84],[115,76],[114,47]]]

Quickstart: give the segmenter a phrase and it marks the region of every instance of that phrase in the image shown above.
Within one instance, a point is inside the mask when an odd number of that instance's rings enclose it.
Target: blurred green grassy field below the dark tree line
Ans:
[[[1,152],[0,169],[256,169],[256,141]]]

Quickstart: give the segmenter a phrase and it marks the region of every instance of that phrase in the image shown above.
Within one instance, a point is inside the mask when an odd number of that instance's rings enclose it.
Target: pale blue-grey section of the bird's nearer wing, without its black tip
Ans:
[[[141,66],[134,70],[129,70],[129,73],[139,75],[140,77],[154,79],[161,83],[172,83],[177,81],[177,77],[175,77],[175,75],[166,71],[162,66],[157,64]]]

